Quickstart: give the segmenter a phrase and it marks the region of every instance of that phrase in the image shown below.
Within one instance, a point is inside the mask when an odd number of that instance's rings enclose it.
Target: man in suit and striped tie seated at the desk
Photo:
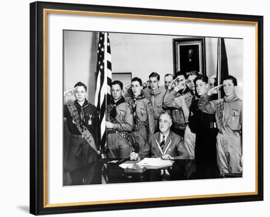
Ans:
[[[189,159],[189,153],[184,146],[183,137],[170,131],[172,125],[171,115],[162,112],[159,117],[159,132],[150,136],[148,143],[150,148],[150,157],[164,160]],[[147,151],[142,152],[147,156]]]

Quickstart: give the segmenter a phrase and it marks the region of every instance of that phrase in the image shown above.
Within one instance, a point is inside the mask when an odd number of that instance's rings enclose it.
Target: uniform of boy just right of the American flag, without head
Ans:
[[[107,120],[113,123],[112,129],[107,130],[108,157],[129,158],[133,151],[130,137],[133,128],[132,108],[128,103],[123,102],[116,106],[116,116],[112,117],[110,111],[113,106],[112,103],[107,105]]]

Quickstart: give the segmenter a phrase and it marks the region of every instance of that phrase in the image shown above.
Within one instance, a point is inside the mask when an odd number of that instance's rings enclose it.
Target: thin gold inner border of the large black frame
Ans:
[[[107,16],[107,17],[125,17],[125,18],[144,18],[144,19],[160,19],[160,20],[175,20],[175,21],[191,21],[191,22],[206,22],[206,23],[227,23],[227,24],[244,24],[255,26],[255,191],[254,192],[239,192],[239,193],[223,193],[223,194],[206,194],[206,195],[190,195],[190,196],[173,196],[173,197],[155,197],[155,198],[139,198],[139,199],[125,199],[125,200],[106,200],[106,201],[89,201],[89,202],[73,202],[73,203],[47,203],[47,15],[48,13],[56,14],[73,14],[73,15],[91,15],[91,16]],[[44,188],[43,188],[43,207],[67,207],[67,206],[83,206],[83,205],[97,205],[97,204],[117,204],[117,203],[133,203],[133,202],[149,202],[162,200],[179,200],[179,199],[195,199],[195,198],[210,198],[210,197],[227,197],[227,196],[246,196],[258,194],[258,22],[248,21],[233,21],[233,20],[216,20],[216,19],[202,19],[202,18],[185,18],[185,17],[167,17],[167,16],[150,16],[138,14],[121,14],[121,13],[104,13],[104,12],[90,12],[90,11],[70,11],[70,10],[54,10],[43,9],[43,46],[44,46]]]

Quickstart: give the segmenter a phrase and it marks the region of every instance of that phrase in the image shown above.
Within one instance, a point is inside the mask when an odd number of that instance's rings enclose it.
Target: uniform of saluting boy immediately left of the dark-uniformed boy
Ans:
[[[163,106],[165,108],[172,108],[172,130],[179,132],[180,136],[184,137],[184,144],[189,152],[190,159],[194,159],[194,149],[195,149],[195,138],[196,135],[193,134],[189,129],[189,107],[191,105],[193,95],[191,94],[188,87],[182,94],[176,92],[175,90],[167,90],[164,99]]]

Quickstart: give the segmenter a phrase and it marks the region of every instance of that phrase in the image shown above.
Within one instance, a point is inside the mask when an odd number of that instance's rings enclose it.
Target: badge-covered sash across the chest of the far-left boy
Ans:
[[[78,113],[77,108],[75,107],[74,103],[73,104],[68,104],[68,110],[71,114],[71,117],[73,119],[73,123],[76,125],[77,129],[81,133],[81,136],[85,138],[85,140],[88,142],[88,144],[98,153],[95,140],[91,133],[88,131],[88,129],[80,124],[80,116]]]

